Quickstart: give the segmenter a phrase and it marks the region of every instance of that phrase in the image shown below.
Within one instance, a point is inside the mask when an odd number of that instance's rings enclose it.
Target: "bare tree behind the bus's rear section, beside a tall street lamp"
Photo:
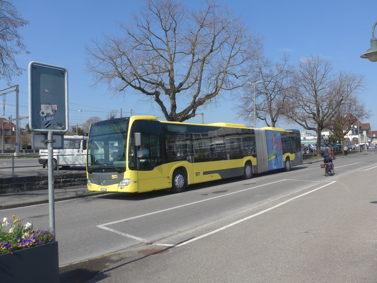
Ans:
[[[250,116],[255,115],[268,127],[276,126],[284,109],[287,91],[294,87],[293,67],[288,65],[288,59],[289,57],[285,55],[281,62],[273,63],[271,60],[264,59],[262,54],[258,56],[257,75],[254,82],[261,81],[262,83],[255,85],[255,114],[254,86],[252,85],[244,86],[244,94],[235,108],[244,120],[250,120]]]

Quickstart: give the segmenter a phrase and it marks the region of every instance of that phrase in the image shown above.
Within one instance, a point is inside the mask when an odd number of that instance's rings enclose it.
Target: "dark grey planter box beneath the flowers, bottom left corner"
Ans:
[[[1,254],[0,281],[59,282],[58,242]]]

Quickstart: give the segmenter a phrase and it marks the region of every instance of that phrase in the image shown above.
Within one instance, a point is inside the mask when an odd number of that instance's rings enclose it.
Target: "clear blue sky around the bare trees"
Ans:
[[[196,6],[197,1],[185,1]],[[12,3],[18,12],[29,21],[29,25],[20,29],[24,43],[30,54],[18,57],[18,65],[26,69],[23,75],[13,78],[13,84],[20,86],[20,116],[28,116],[28,64],[31,61],[62,66],[69,73],[69,123],[84,123],[92,116],[105,118],[111,110],[122,108],[123,117],[134,114],[161,115],[156,107],[138,103],[136,95],[125,99],[113,98],[107,93],[106,86],[93,89],[92,80],[85,69],[84,46],[92,37],[101,33],[116,33],[115,21],[130,21],[130,14],[138,10],[134,1],[47,1],[14,0]],[[222,3],[226,3],[222,1]],[[377,62],[360,58],[370,48],[373,24],[377,21],[374,11],[375,0],[362,2],[351,0],[317,1],[240,1],[227,2],[236,14],[250,26],[251,31],[260,32],[264,37],[265,55],[279,60],[284,53],[289,53],[291,63],[297,65],[300,58],[317,55],[331,60],[335,71],[352,71],[365,75],[367,90],[360,97],[373,116],[361,120],[370,123],[377,131]],[[370,8],[369,8],[370,7]],[[377,30],[376,30],[377,34]],[[0,89],[8,88],[0,82]],[[228,101],[219,107],[198,109],[204,112],[204,123],[229,122],[245,123],[239,120]],[[82,110],[79,112],[78,110]],[[3,114],[3,113],[1,113]],[[81,114],[81,115],[80,115]],[[15,94],[6,95],[5,116],[15,116]],[[226,117],[224,119],[224,117]],[[201,115],[190,120],[201,123]],[[28,123],[23,120],[21,126]],[[258,127],[265,126],[257,122]],[[278,124],[282,128],[297,128],[298,125]]]

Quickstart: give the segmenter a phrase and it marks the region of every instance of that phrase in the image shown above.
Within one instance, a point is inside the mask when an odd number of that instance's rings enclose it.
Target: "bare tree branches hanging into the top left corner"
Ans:
[[[16,56],[26,51],[23,37],[18,28],[28,25],[17,9],[8,1],[0,1],[0,78],[11,85],[12,77],[22,74],[24,69],[17,65]]]

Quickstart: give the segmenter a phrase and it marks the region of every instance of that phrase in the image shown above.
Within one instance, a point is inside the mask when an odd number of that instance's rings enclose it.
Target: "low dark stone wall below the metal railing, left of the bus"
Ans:
[[[54,188],[86,185],[86,172],[54,175]],[[0,194],[48,189],[48,176],[0,179]]]

